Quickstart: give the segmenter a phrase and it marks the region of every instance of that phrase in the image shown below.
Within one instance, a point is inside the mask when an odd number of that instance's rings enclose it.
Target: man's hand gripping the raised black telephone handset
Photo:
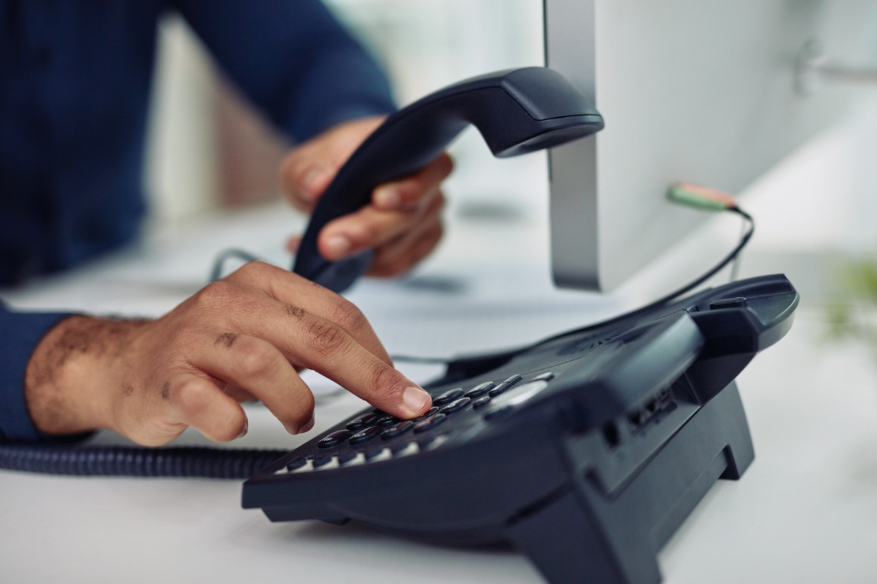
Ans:
[[[357,146],[381,125],[365,118],[337,125],[290,152],[281,166],[283,189],[296,208],[310,212]],[[327,260],[374,248],[368,274],[402,274],[423,260],[442,236],[441,182],[453,162],[443,153],[415,174],[374,189],[372,202],[339,217],[320,232],[317,246]],[[298,238],[290,239],[295,250]]]

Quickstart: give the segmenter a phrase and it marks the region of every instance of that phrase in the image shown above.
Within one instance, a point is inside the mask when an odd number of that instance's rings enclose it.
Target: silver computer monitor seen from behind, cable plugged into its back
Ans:
[[[802,87],[802,59],[877,67],[873,0],[544,0],[546,62],[606,128],[555,148],[553,278],[610,290],[704,215],[678,181],[739,192],[863,92]]]

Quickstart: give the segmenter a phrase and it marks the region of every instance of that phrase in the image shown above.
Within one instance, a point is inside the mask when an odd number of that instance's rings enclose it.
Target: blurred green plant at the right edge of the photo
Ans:
[[[877,348],[877,258],[845,260],[838,292],[828,307],[831,338],[852,338]]]

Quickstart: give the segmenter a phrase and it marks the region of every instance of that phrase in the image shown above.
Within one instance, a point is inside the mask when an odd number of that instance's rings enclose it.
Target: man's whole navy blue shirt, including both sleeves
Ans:
[[[379,68],[318,0],[0,0],[0,284],[132,239],[156,27],[182,14],[291,139],[393,109]],[[35,439],[32,348],[60,314],[0,304],[0,433]]]

